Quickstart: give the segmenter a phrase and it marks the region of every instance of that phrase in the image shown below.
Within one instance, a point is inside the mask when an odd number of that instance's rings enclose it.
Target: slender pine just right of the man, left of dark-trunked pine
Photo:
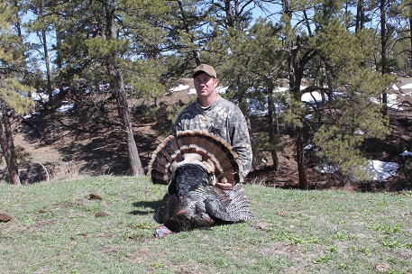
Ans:
[[[255,160],[260,160],[258,151],[270,151],[273,170],[277,171],[278,151],[284,148],[278,129],[279,103],[284,95],[276,93],[275,89],[284,82],[283,72],[286,68],[283,60],[287,58],[287,54],[283,50],[273,50],[280,49],[282,44],[279,25],[261,20],[252,26],[249,33],[242,47],[244,56],[249,60],[245,64],[245,71],[251,78],[250,87],[252,87],[247,96],[257,105],[265,105],[268,111],[268,134],[264,137],[267,141],[261,146],[256,145],[258,142],[255,142],[253,155]]]

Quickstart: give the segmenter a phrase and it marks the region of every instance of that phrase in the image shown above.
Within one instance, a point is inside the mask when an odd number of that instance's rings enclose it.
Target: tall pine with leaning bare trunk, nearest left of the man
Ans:
[[[127,105],[126,84],[135,94],[162,92],[159,54],[165,35],[160,28],[169,7],[160,1],[81,1],[60,3],[57,30],[60,78],[104,78],[117,100],[131,175],[143,175]]]

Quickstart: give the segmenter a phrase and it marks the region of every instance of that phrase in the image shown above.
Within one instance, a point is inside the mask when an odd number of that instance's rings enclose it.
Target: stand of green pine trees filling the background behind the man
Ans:
[[[128,100],[149,100],[161,122],[160,97],[200,63],[216,68],[229,87],[224,96],[248,121],[248,99],[264,103],[268,131],[251,129],[253,151],[270,151],[274,170],[284,145],[279,127],[287,127],[295,136],[300,188],[307,189],[308,142],[319,163],[360,180],[367,176],[359,168],[362,142],[389,132],[388,87],[412,66],[407,0],[3,0],[0,11],[0,141],[14,184],[20,184],[19,150],[10,120],[36,107],[32,92],[49,95],[37,103],[42,107],[53,105],[56,89],[63,97],[84,87],[109,94],[123,124],[129,173],[138,176],[141,144]],[[284,85],[288,92],[276,92]],[[303,103],[307,92],[324,99]],[[170,124],[179,110],[167,109]]]

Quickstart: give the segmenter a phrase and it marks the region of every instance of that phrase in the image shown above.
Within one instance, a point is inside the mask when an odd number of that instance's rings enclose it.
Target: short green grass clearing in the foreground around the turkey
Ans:
[[[165,191],[131,177],[0,185],[13,217],[0,273],[412,273],[411,192],[245,186],[257,221],[156,239]]]

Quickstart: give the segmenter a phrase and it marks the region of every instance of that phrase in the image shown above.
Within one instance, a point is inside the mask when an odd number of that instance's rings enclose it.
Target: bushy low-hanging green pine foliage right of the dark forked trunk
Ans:
[[[362,143],[389,132],[380,105],[371,98],[380,98],[380,91],[393,79],[362,66],[362,61],[371,58],[372,37],[366,30],[351,33],[333,22],[323,28],[317,40],[328,78],[328,101],[316,108],[316,115],[322,117],[314,134],[316,155],[350,180],[368,178],[362,168],[366,165],[360,151]]]

